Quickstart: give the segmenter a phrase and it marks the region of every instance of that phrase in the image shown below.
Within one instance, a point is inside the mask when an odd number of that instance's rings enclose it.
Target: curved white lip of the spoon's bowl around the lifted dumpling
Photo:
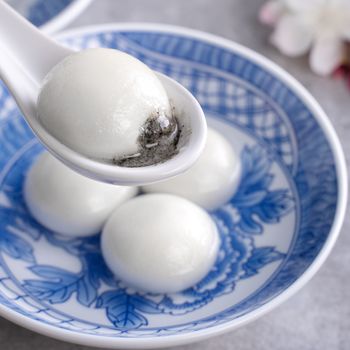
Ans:
[[[92,179],[118,185],[141,185],[164,180],[186,171],[199,157],[206,139],[205,116],[192,94],[175,80],[157,73],[176,110],[188,116],[191,135],[179,153],[164,163],[128,168],[90,159],[53,137],[35,116],[30,126],[48,150],[73,170]]]

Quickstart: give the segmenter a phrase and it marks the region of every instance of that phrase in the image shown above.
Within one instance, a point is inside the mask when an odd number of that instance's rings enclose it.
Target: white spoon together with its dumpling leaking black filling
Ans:
[[[204,148],[206,122],[196,99],[126,53],[73,52],[3,2],[0,48],[0,76],[27,122],[53,155],[83,175],[152,183],[187,170]]]

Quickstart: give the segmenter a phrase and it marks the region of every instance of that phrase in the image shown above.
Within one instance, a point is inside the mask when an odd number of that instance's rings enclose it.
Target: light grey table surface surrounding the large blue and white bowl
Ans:
[[[306,0],[307,1],[307,0]],[[307,59],[290,59],[268,44],[257,13],[263,0],[95,0],[70,27],[110,22],[156,22],[221,35],[280,64],[320,102],[350,157],[350,89],[340,80],[310,72]],[[321,270],[297,295],[237,331],[177,349],[350,349],[350,218]],[[82,350],[0,318],[0,349]]]

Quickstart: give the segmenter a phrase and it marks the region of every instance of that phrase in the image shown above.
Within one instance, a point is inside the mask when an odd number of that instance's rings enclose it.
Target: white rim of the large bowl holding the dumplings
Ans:
[[[56,35],[57,39],[64,39],[73,35],[104,32],[104,31],[122,31],[122,30],[134,30],[134,31],[157,31],[159,33],[178,34],[184,37],[190,37],[199,39],[205,42],[212,43],[214,45],[221,46],[228,50],[239,53],[252,62],[262,66],[266,71],[272,73],[275,77],[280,79],[286,84],[293,92],[295,92],[299,98],[303,101],[305,106],[312,112],[315,120],[320,125],[322,131],[325,134],[332,154],[335,160],[335,168],[337,174],[337,186],[338,186],[338,199],[334,221],[329,231],[329,235],[319,251],[318,255],[311,263],[311,265],[303,272],[301,276],[283,292],[277,295],[275,298],[266,302],[256,310],[247,313],[246,315],[236,319],[225,322],[220,325],[215,325],[211,328],[198,330],[192,333],[180,333],[173,335],[166,335],[162,337],[145,337],[145,338],[111,338],[103,335],[82,334],[72,330],[66,330],[57,328],[53,325],[44,324],[41,321],[31,319],[27,316],[17,313],[12,309],[0,304],[0,315],[4,318],[12,321],[27,329],[41,333],[43,335],[56,338],[63,341],[69,341],[87,346],[96,346],[103,348],[125,348],[125,349],[149,349],[160,348],[166,346],[183,345],[200,340],[205,340],[209,337],[218,336],[228,331],[232,331],[243,325],[261,317],[267,312],[273,310],[278,305],[286,301],[298,290],[300,290],[319,270],[329,253],[331,252],[339,232],[341,230],[347,205],[348,197],[348,183],[347,183],[347,167],[343,149],[341,147],[338,136],[333,128],[330,120],[326,116],[325,112],[315,100],[314,97],[306,90],[306,88],[299,83],[288,72],[279,67],[276,63],[270,59],[265,58],[261,54],[246,48],[243,45],[237,44],[231,40],[209,34],[203,31],[194,29],[188,29],[180,26],[156,24],[156,23],[109,23],[103,25],[91,25],[80,28],[70,29]]]

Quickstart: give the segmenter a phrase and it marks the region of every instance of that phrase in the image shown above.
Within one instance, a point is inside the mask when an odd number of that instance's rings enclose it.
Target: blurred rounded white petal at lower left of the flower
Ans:
[[[271,42],[285,55],[299,56],[310,48],[312,32],[296,16],[284,15],[277,23]]]

